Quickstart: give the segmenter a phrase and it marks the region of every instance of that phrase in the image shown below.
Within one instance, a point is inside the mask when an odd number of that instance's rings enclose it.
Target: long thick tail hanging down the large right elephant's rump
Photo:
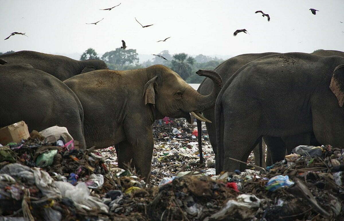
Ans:
[[[224,128],[224,117],[222,112],[221,98],[218,96],[215,104],[215,127],[216,127],[216,149],[217,153],[215,154],[215,165],[216,165],[216,174],[221,173],[223,169],[224,158],[224,147],[223,147],[223,128]]]

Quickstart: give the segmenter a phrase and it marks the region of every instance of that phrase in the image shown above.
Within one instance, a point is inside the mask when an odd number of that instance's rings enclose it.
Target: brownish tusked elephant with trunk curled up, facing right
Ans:
[[[84,108],[87,146],[106,148],[116,145],[118,165],[125,168],[131,159],[143,177],[149,178],[153,152],[151,125],[165,116],[194,117],[214,105],[222,80],[214,71],[199,75],[215,82],[213,92],[201,95],[176,72],[162,66],[113,71],[97,70],[64,81],[78,96]]]

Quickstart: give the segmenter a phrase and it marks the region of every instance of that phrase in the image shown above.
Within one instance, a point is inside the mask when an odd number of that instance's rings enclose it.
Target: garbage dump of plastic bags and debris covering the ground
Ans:
[[[344,217],[344,150],[330,145],[299,146],[265,170],[248,166],[245,171],[215,175],[214,153],[206,133],[203,154],[207,163],[198,163],[196,138],[192,137],[195,128],[174,119],[154,123],[148,183],[135,169],[117,167],[114,147],[81,150],[65,128],[50,128],[58,132],[49,135],[33,131],[20,142],[2,143],[0,219],[269,221]]]

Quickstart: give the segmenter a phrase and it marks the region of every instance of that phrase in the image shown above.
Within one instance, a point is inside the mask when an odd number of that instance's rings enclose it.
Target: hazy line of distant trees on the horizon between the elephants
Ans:
[[[204,77],[198,76],[195,72],[199,69],[215,69],[223,59],[217,57],[209,57],[205,55],[197,55],[195,57],[189,56],[185,53],[171,55],[168,50],[161,51],[158,55],[163,56],[167,60],[159,57],[154,57],[139,63],[138,53],[136,49],[116,48],[112,51],[107,51],[101,58],[93,48],[88,48],[80,57],[80,60],[87,59],[101,59],[109,69],[112,70],[129,70],[137,68],[146,68],[152,65],[164,65],[177,72],[187,83],[201,83]]]

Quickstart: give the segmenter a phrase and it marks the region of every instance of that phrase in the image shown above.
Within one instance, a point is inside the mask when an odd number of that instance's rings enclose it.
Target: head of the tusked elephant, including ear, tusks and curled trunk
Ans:
[[[149,80],[144,85],[144,104],[153,105],[156,118],[185,117],[191,123],[189,114],[191,113],[195,118],[211,123],[200,112],[215,104],[217,94],[222,88],[222,79],[215,71],[199,70],[196,72],[198,75],[211,78],[216,85],[211,94],[202,95],[176,72],[165,66],[154,65],[146,70]]]

